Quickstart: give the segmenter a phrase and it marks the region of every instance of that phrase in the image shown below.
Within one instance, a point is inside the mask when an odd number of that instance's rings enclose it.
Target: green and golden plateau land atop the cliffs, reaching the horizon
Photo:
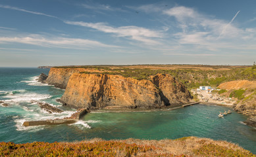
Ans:
[[[254,65],[255,66],[255,65]],[[151,80],[150,77],[161,74],[169,74],[188,89],[199,86],[217,87],[223,82],[231,80],[256,80],[256,69],[251,66],[221,66],[221,65],[87,65],[64,66],[55,68],[84,68],[87,71],[80,73],[109,74],[132,77],[138,80]],[[94,70],[94,71],[91,71]],[[95,71],[97,70],[97,71]]]

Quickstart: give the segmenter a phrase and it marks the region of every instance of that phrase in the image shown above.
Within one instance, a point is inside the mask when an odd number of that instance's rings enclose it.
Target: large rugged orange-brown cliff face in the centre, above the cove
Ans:
[[[120,75],[74,73],[61,101],[76,108],[157,108],[188,103],[190,92],[170,75],[136,80]]]

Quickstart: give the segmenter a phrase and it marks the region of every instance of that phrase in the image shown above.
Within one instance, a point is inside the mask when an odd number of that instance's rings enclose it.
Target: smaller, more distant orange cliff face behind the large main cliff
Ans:
[[[47,84],[52,84],[57,88],[66,89],[68,80],[73,73],[86,71],[84,68],[54,68],[49,71],[49,76],[44,81]]]

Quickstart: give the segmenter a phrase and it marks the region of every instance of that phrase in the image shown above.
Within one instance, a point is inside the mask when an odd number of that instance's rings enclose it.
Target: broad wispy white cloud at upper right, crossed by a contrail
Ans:
[[[188,7],[173,7],[162,12],[174,17],[176,26],[182,29],[174,33],[175,40],[180,44],[177,51],[221,53],[223,50],[236,52],[245,47],[255,49],[253,47],[253,41],[256,42],[255,28],[242,29],[232,24],[240,11],[230,22],[202,14]]]

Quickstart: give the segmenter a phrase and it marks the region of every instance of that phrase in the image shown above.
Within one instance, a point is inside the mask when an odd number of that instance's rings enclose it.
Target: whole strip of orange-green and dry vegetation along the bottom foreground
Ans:
[[[255,156],[226,141],[197,137],[161,141],[93,139],[76,143],[0,143],[0,156]]]

